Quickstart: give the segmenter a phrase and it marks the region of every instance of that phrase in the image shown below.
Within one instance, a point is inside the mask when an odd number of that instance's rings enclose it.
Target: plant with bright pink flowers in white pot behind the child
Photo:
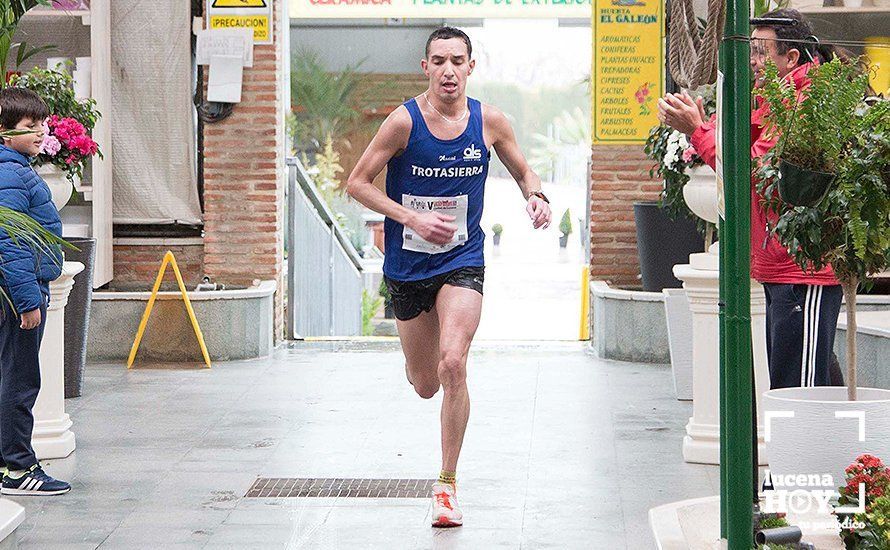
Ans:
[[[49,107],[43,145],[34,166],[53,191],[53,202],[61,209],[71,198],[93,155],[102,157],[99,145],[90,137],[101,114],[93,99],[78,100],[71,76],[35,67],[13,76],[11,86],[34,91]]]

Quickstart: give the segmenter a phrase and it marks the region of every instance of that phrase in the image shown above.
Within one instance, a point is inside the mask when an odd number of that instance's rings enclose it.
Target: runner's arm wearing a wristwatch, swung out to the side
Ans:
[[[550,205],[539,197],[531,195],[533,191],[541,191],[541,178],[531,169],[525,155],[519,149],[510,121],[500,110],[488,105],[485,106],[483,119],[485,133],[491,136],[491,145],[497,152],[498,158],[519,184],[523,198],[528,201],[526,211],[535,229],[539,227],[546,229],[550,225]]]

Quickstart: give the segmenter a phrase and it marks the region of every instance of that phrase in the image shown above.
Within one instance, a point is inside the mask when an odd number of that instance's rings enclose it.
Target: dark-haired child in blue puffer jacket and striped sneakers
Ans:
[[[27,214],[61,237],[62,221],[49,187],[31,167],[40,152],[49,112],[24,88],[0,91],[0,129],[28,133],[0,145],[0,206]],[[31,447],[32,409],[40,391],[40,341],[46,325],[49,282],[62,273],[60,250],[29,246],[0,231],[0,459],[4,495],[58,495],[71,486],[48,476]]]

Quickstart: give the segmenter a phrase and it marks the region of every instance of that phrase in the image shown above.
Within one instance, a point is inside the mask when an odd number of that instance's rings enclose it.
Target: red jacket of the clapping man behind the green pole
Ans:
[[[798,67],[785,78],[794,82],[798,90],[810,85],[807,77],[812,64]],[[751,113],[751,158],[759,159],[776,144],[775,139],[763,135],[765,117],[769,105],[761,98],[757,99],[757,109]],[[717,128],[712,119],[702,124],[690,137],[690,143],[698,151],[699,156],[714,168],[716,160]],[[782,246],[775,235],[770,235],[767,220],[775,222],[778,215],[765,211],[762,206],[763,197],[757,191],[757,182],[751,180],[751,276],[761,283],[836,285],[837,279],[830,266],[821,271],[804,272],[795,263],[788,250]]]

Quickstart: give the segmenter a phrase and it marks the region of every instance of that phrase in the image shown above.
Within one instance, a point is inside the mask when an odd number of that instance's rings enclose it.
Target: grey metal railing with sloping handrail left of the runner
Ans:
[[[303,164],[287,169],[287,337],[360,336],[361,258]]]

